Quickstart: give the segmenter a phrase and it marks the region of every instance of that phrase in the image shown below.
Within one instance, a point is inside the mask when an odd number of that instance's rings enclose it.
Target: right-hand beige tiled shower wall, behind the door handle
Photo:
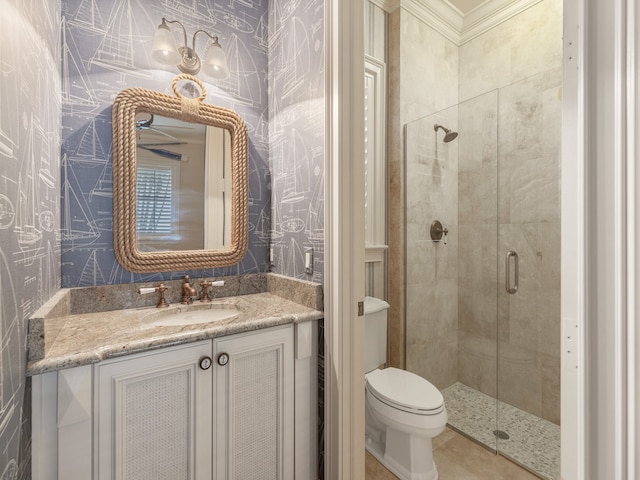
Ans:
[[[561,55],[561,0],[460,47],[459,381],[556,423]],[[504,283],[510,250],[515,295]]]

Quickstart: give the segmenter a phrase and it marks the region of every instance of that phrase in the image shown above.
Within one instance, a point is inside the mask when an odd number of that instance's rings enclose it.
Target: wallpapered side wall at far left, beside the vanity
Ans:
[[[60,2],[0,11],[0,479],[27,480],[26,319],[60,288]]]

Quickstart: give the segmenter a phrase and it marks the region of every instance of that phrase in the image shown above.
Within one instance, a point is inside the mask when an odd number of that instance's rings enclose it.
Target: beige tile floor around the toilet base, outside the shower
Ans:
[[[538,477],[476,442],[445,429],[433,440],[433,457],[439,480],[537,480]],[[369,452],[365,460],[366,480],[397,480]]]

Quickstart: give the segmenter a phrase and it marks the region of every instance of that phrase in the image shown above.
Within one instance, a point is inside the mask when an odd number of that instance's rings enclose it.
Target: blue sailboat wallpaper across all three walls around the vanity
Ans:
[[[59,288],[266,271],[322,283],[324,2],[0,0],[0,9],[0,480],[14,480],[31,473],[27,319]],[[206,101],[247,123],[249,252],[234,267],[139,275],[113,253],[111,105],[129,87],[171,94],[177,69],[148,54],[163,16],[220,37],[231,75],[200,76]]]

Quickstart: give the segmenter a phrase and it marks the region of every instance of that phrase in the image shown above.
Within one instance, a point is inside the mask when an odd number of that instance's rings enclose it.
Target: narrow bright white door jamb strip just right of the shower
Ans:
[[[561,160],[561,478],[585,478],[586,166],[584,12],[565,2]]]

